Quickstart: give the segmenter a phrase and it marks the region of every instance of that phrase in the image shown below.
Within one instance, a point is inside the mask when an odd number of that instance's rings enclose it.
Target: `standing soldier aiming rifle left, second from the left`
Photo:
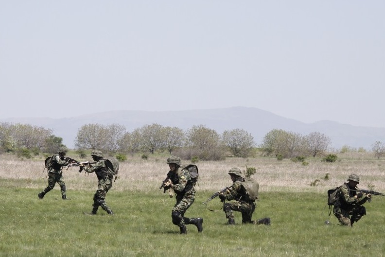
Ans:
[[[99,150],[94,150],[91,153],[92,159],[96,162],[94,166],[88,164],[87,166],[80,165],[80,169],[84,169],[84,171],[88,173],[95,172],[96,176],[99,180],[98,189],[94,194],[94,202],[92,205],[91,215],[95,215],[98,211],[99,206],[102,207],[108,214],[114,215],[111,208],[107,206],[105,202],[105,195],[108,190],[112,187],[112,178],[107,175],[107,166],[105,165],[105,159],[103,158],[103,154]]]

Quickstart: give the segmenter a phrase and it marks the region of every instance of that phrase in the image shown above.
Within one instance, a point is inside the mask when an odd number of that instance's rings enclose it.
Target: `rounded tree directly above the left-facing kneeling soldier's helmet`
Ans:
[[[243,129],[233,129],[222,133],[222,141],[237,157],[247,157],[255,146],[254,138]]]

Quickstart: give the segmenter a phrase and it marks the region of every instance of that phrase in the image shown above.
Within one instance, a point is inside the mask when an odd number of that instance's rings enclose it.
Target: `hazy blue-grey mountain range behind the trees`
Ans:
[[[109,111],[72,118],[9,118],[0,120],[9,123],[28,123],[53,130],[53,134],[63,138],[64,144],[73,147],[73,141],[79,128],[89,123],[124,125],[127,131],[143,125],[157,123],[163,126],[178,127],[187,130],[192,125],[205,125],[218,133],[231,129],[244,129],[251,133],[257,144],[272,129],[283,129],[307,135],[321,132],[332,139],[332,147],[344,145],[370,150],[375,141],[385,141],[385,128],[357,127],[335,121],[303,123],[287,119],[257,108],[231,107],[223,109],[188,110],[188,111]]]

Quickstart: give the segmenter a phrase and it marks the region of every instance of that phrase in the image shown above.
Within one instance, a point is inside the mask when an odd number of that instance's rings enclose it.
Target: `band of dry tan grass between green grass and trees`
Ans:
[[[71,156],[70,156],[71,157]],[[340,157],[340,156],[339,156]],[[142,160],[139,156],[131,157],[120,163],[119,177],[113,190],[135,190],[140,192],[159,191],[159,185],[168,172],[164,159],[152,157]],[[290,160],[277,161],[275,158],[227,158],[224,161],[201,161],[199,167],[199,190],[217,191],[231,185],[227,171],[232,167],[245,170],[247,167],[257,168],[253,175],[261,191],[289,192],[325,192],[346,181],[350,173],[357,173],[361,178],[360,188],[385,191],[385,160],[374,159],[369,154],[345,154],[335,163],[321,162],[320,159],[309,158],[308,166]],[[187,164],[187,162],[185,162]],[[0,178],[7,178],[5,186],[13,187],[13,183],[25,183],[25,188],[43,189],[47,186],[47,171],[43,172],[44,159],[20,160],[14,155],[0,156]],[[329,180],[324,180],[329,173]],[[97,179],[95,174],[85,175],[78,172],[77,167],[63,171],[68,189],[95,190]],[[310,186],[316,179],[317,186]],[[55,187],[59,188],[58,186]]]

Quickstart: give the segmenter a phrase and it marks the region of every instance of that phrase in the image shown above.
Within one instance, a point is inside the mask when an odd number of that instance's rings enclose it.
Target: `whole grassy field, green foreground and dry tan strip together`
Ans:
[[[175,199],[158,190],[168,171],[163,157],[121,163],[121,175],[106,198],[115,215],[100,209],[90,216],[84,213],[92,208],[95,174],[70,168],[64,176],[71,200],[61,200],[58,185],[39,200],[37,193],[47,186],[42,159],[1,155],[0,256],[385,256],[385,197],[373,196],[365,205],[368,214],[353,227],[338,225],[325,207],[326,190],[353,172],[360,175],[361,188],[384,192],[384,161],[349,155],[332,164],[307,161],[308,166],[262,157],[197,163],[199,187],[186,217],[203,217],[204,231],[198,234],[188,225],[188,234],[180,235],[171,222]],[[260,183],[261,201],[253,218],[270,217],[270,226],[242,225],[239,213],[237,224],[227,226],[222,210],[210,212],[201,204],[231,185],[231,167],[246,166],[258,169],[253,177]],[[316,186],[310,186],[315,180]],[[209,205],[221,207],[219,199]]]

